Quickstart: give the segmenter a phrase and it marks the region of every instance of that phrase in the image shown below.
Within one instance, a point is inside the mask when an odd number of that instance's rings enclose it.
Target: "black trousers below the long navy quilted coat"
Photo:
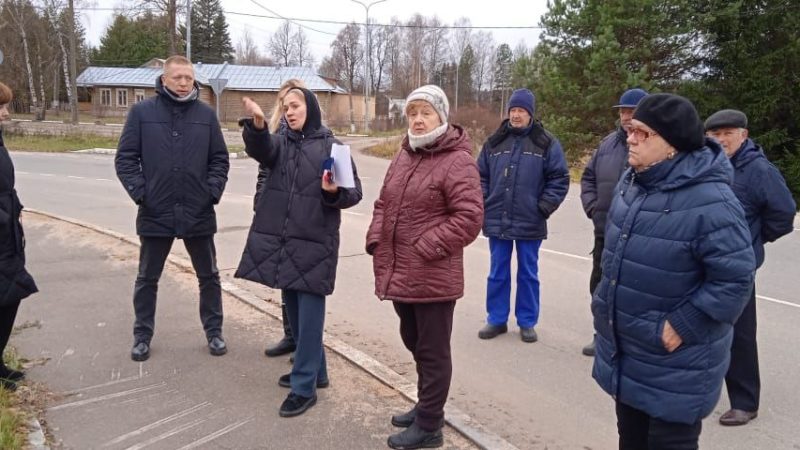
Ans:
[[[665,422],[617,402],[620,450],[697,450],[702,425]]]

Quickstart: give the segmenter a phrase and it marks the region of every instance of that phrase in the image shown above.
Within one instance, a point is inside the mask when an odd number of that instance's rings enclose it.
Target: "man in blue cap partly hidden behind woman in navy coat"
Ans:
[[[606,228],[606,215],[611,207],[616,187],[622,172],[628,167],[628,129],[633,110],[647,96],[642,89],[628,89],[613,106],[619,113],[619,127],[600,141],[600,146],[581,177],[581,202],[586,216],[594,223],[594,248],[592,249],[592,275],[589,278],[589,297],[603,276],[600,256]],[[583,354],[594,356],[594,339],[583,348]]]

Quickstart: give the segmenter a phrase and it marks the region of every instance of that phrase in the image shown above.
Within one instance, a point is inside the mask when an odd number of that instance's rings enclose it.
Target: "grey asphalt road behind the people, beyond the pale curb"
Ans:
[[[388,161],[355,157],[364,201],[343,216],[341,260],[336,292],[328,302],[326,330],[413,379],[413,363],[399,339],[398,320],[390,304],[376,300],[371,260],[363,251],[372,204]],[[25,206],[135,234],[136,207],[116,180],[113,157],[14,153],[12,158]],[[252,219],[255,174],[254,161],[232,160],[230,181],[217,207],[219,264],[227,277],[238,264]],[[588,307],[592,228],[578,195],[579,187],[571,186],[567,200],[550,220],[550,237],[542,247],[539,342],[522,343],[515,327],[491,341],[477,338],[485,320],[487,241],[479,238],[465,255],[467,286],[456,307],[451,402],[521,449],[616,447],[613,401],[591,379],[591,359],[580,354],[592,335]],[[180,245],[173,251],[184,253]],[[723,395],[704,423],[702,448],[800,449],[800,357],[795,348],[800,342],[799,267],[800,231],[768,245],[767,262],[757,279],[760,415],[747,427],[719,426],[717,418],[728,408]],[[275,295],[260,286],[248,288]]]

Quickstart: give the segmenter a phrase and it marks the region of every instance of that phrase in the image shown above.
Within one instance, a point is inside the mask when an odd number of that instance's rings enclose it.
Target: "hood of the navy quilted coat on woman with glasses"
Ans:
[[[631,173],[632,169],[628,169],[626,177]],[[705,138],[705,146],[700,150],[678,152],[674,159],[638,173],[636,180],[648,190],[659,191],[672,191],[709,182],[731,184],[733,166],[722,146],[711,138]]]

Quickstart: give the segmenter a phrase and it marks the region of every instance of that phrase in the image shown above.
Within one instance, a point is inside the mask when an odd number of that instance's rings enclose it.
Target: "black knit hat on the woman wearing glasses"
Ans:
[[[674,94],[651,94],[639,102],[633,118],[655,130],[675,150],[691,152],[703,147],[703,122],[692,102]]]

